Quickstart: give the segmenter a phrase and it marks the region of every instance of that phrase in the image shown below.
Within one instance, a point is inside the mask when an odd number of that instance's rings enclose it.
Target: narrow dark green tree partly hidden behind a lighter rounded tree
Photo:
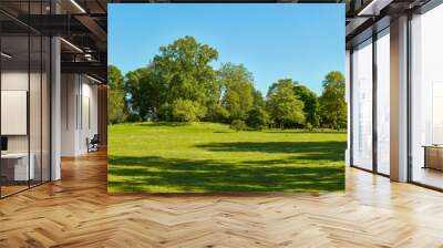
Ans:
[[[296,95],[303,102],[303,112],[306,114],[306,124],[318,127],[320,125],[319,101],[317,94],[309,87],[300,84],[295,86]]]

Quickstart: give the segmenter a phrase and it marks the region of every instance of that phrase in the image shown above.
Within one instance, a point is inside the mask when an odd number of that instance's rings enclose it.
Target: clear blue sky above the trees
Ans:
[[[109,4],[109,64],[146,65],[158,48],[185,35],[243,63],[266,94],[291,78],[317,93],[329,71],[344,71],[344,4]]]

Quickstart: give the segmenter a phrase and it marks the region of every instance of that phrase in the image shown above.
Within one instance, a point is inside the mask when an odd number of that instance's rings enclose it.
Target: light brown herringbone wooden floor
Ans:
[[[443,247],[443,194],[348,168],[346,194],[107,195],[104,153],[0,200],[0,247]]]

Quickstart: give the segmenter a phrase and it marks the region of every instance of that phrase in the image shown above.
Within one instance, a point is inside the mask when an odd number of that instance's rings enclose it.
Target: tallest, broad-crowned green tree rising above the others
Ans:
[[[172,104],[178,99],[195,101],[202,106],[218,102],[219,86],[210,65],[217,58],[217,50],[198,43],[193,37],[161,46],[152,61],[151,80],[161,90],[162,104]]]

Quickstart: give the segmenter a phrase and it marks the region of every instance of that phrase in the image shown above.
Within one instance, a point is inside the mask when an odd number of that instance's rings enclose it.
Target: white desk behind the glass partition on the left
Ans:
[[[34,161],[35,156],[33,153],[29,156],[31,163],[29,163],[28,170],[28,153],[6,153],[1,154],[2,174],[3,170],[8,180],[29,180],[35,177]],[[11,172],[13,170],[13,173]]]

